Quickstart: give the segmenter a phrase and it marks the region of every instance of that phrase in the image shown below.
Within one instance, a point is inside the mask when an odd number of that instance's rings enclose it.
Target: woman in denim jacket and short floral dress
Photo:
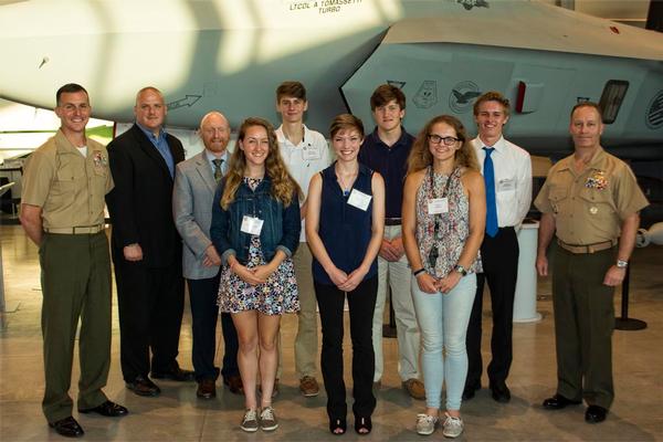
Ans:
[[[246,407],[241,428],[248,432],[278,427],[271,403],[276,338],[281,315],[299,309],[292,262],[302,229],[299,194],[278,152],[272,125],[262,118],[246,118],[228,175],[217,189],[210,233],[223,264],[219,306],[232,314],[238,329]]]

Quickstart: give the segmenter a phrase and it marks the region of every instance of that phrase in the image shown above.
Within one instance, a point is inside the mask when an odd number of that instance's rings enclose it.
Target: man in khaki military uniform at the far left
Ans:
[[[113,188],[108,154],[85,137],[87,92],[66,84],[56,94],[61,127],[25,165],[21,223],[39,246],[42,333],[49,425],[81,436],[69,396],[76,327],[81,318],[78,412],[127,413],[102,388],[110,365],[110,259],[104,233],[104,196]]]

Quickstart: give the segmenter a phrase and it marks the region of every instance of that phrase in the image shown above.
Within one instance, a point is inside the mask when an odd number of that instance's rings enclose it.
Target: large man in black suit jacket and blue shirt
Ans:
[[[115,189],[106,197],[119,307],[120,362],[127,388],[160,389],[148,378],[192,380],[176,360],[185,286],[181,240],[172,221],[175,166],[182,144],[164,130],[166,105],[154,87],[136,95],[136,124],[108,145]]]

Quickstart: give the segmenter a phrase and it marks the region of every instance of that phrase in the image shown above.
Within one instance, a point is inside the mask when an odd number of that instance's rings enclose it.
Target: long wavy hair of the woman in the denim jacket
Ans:
[[[278,140],[276,139],[276,133],[270,122],[260,117],[249,117],[244,119],[242,126],[240,126],[240,133],[238,135],[238,144],[235,145],[234,151],[230,157],[230,165],[228,167],[228,173],[225,175],[225,185],[223,187],[223,194],[221,196],[221,207],[223,210],[228,210],[230,204],[234,201],[234,196],[244,179],[244,170],[246,169],[246,157],[244,150],[240,149],[239,141],[244,141],[246,130],[253,126],[262,126],[267,133],[267,139],[270,141],[270,149],[267,151],[267,158],[265,159],[265,175],[272,180],[271,194],[274,199],[281,201],[284,206],[290,206],[293,201],[293,194],[296,192],[296,198],[302,198],[302,189],[297,182],[287,172],[287,168],[283,162],[281,152],[278,150]]]

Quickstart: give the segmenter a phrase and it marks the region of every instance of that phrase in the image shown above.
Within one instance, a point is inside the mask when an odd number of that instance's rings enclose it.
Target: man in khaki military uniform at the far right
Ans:
[[[546,250],[557,236],[552,305],[557,345],[557,392],[544,408],[589,406],[585,420],[606,420],[614,398],[612,329],[614,286],[627,273],[648,201],[629,166],[600,145],[599,107],[571,112],[573,155],[557,162],[535,200],[541,211],[536,267],[548,274]]]

